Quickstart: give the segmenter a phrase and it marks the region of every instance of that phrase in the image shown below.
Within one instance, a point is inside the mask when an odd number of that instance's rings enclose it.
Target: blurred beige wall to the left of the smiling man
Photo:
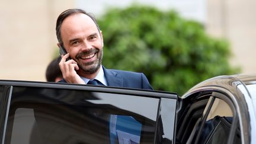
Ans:
[[[55,25],[74,1],[0,1],[0,79],[46,81],[57,49]]]

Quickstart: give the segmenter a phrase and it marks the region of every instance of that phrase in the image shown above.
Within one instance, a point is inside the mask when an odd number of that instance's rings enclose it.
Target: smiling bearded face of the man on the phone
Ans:
[[[103,37],[94,21],[85,14],[67,17],[60,28],[63,46],[78,63],[78,73],[92,74],[103,58]]]

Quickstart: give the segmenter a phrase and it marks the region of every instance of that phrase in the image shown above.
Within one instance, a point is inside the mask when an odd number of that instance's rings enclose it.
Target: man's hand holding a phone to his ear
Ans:
[[[68,83],[85,84],[84,80],[82,80],[75,71],[79,69],[77,63],[73,59],[66,61],[68,57],[69,53],[66,55],[62,55],[62,59],[59,63],[60,71],[62,71],[63,78]]]

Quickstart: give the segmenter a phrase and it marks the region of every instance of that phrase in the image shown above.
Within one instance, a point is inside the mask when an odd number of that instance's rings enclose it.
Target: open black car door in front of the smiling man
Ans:
[[[171,92],[0,81],[2,143],[174,143]]]

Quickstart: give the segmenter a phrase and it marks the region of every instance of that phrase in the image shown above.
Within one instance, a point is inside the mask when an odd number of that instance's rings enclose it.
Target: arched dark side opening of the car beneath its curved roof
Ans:
[[[178,124],[177,143],[241,143],[236,110],[229,97],[218,92],[200,92],[184,100]]]

